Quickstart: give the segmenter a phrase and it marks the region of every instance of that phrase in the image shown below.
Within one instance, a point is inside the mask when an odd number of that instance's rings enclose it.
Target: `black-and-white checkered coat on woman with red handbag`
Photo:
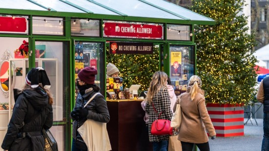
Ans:
[[[153,97],[153,104],[157,112],[154,111],[152,104],[146,105],[146,112],[149,114],[149,141],[150,142],[159,142],[163,140],[168,140],[169,135],[152,135],[151,134],[151,125],[157,119],[158,114],[163,111],[160,116],[160,119],[171,120],[173,112],[170,108],[170,96],[166,87],[161,87],[157,94]],[[176,135],[176,132],[173,131],[173,135]]]

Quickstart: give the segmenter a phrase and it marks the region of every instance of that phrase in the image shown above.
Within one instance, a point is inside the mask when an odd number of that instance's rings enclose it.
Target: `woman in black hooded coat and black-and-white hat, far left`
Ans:
[[[18,94],[8,129],[2,142],[4,151],[44,151],[42,129],[53,123],[50,82],[42,67],[32,68],[26,85]]]

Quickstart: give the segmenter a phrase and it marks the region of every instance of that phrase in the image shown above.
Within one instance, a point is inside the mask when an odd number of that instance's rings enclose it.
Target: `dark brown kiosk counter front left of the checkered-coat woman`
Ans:
[[[143,100],[107,100],[112,151],[152,151],[144,121]]]

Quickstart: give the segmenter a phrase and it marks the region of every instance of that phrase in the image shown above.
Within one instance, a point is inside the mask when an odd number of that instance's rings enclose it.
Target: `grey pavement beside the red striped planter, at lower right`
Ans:
[[[263,140],[263,119],[252,119],[244,127],[244,136],[217,137],[209,140],[210,151],[261,151]],[[245,122],[247,119],[245,118]]]

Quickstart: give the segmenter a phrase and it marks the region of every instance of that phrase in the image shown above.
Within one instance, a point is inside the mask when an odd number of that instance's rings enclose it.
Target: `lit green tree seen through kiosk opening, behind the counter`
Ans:
[[[158,47],[154,47],[152,55],[109,54],[107,49],[107,64],[112,63],[118,67],[124,88],[141,85],[139,90],[148,90],[152,75],[159,70],[158,52]]]

